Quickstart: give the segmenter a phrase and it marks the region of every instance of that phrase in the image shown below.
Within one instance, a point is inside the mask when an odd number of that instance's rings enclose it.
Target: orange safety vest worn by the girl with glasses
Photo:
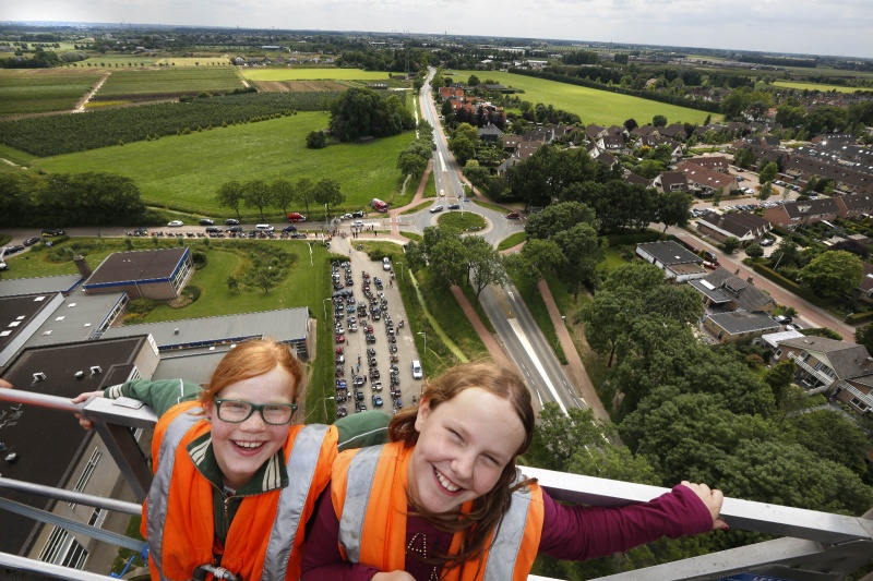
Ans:
[[[196,401],[174,406],[155,428],[155,479],[141,526],[153,580],[189,580],[196,567],[213,564],[214,486],[186,449],[211,429],[205,417],[193,415],[200,410]],[[240,501],[222,567],[243,581],[299,579],[306,523],[330,482],[337,440],[333,426],[290,426],[283,447],[289,484]]]

